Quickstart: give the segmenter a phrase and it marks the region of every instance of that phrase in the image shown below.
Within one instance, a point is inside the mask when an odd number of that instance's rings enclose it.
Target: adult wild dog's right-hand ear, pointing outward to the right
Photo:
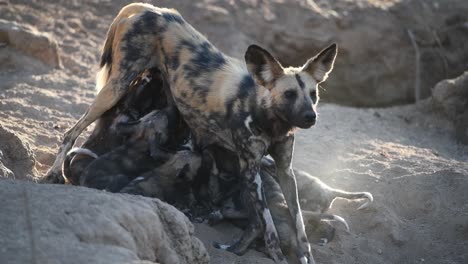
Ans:
[[[315,57],[309,59],[303,67],[303,71],[309,73],[317,83],[324,82],[328,74],[333,70],[338,46],[336,43],[320,51]]]

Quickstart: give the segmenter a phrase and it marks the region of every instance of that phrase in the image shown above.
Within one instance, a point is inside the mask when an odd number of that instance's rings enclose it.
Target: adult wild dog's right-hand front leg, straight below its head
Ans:
[[[279,184],[283,191],[292,219],[296,223],[297,242],[300,249],[301,264],[315,263],[311,253],[310,243],[305,232],[304,220],[297,194],[296,177],[292,169],[292,155],[294,152],[294,135],[287,136],[280,141],[273,142],[269,153],[276,163]]]

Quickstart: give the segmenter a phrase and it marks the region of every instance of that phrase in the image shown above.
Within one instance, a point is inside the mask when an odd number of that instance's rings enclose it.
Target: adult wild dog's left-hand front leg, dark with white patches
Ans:
[[[248,134],[247,134],[248,135]],[[241,238],[231,246],[221,246],[235,254],[242,255],[255,238],[264,234],[265,246],[270,257],[277,263],[286,263],[281,251],[278,233],[273,223],[270,210],[267,207],[260,177],[260,161],[266,153],[267,142],[255,136],[234,136],[238,149],[240,174],[244,185],[244,197],[248,210],[249,225]]]

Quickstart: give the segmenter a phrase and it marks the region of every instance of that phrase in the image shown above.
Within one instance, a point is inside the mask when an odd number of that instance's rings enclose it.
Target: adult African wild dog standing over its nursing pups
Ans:
[[[60,173],[65,154],[78,135],[123,97],[140,72],[155,67],[167,80],[196,145],[218,145],[238,155],[240,175],[254,210],[240,240],[221,247],[242,254],[264,234],[270,256],[283,262],[258,173],[261,158],[269,153],[276,161],[279,182],[296,224],[299,259],[313,263],[291,169],[292,131],[315,124],[317,85],[328,77],[336,54],[333,44],[302,67],[283,68],[266,50],[252,45],[241,61],[218,51],[177,11],[130,4],[108,31],[98,80],[103,86],[65,134],[49,176]]]

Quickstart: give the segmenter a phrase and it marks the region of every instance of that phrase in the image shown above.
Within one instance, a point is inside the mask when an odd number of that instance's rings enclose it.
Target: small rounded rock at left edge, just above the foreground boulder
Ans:
[[[29,145],[0,124],[0,178],[30,178],[34,164]]]

